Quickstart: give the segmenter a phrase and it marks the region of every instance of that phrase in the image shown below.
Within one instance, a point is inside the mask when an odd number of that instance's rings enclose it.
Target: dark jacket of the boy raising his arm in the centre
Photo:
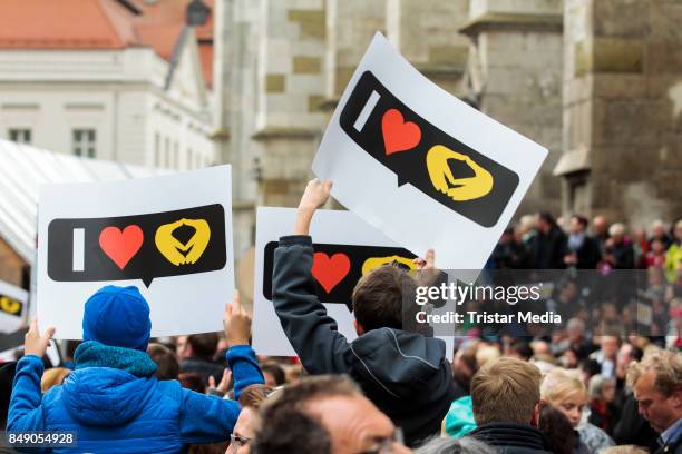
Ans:
[[[311,374],[349,374],[401,427],[406,443],[440,432],[454,399],[445,343],[400,329],[372,329],[352,343],[318,299],[309,236],[280,238],[272,302],[286,337]]]

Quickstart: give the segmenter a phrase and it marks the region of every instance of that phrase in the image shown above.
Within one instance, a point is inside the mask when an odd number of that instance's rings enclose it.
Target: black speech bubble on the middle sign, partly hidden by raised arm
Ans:
[[[279,246],[277,241],[270,241],[265,245],[263,260],[263,296],[267,300],[272,300],[272,272],[274,266],[274,250]],[[368,259],[373,259],[368,266],[373,269],[387,263],[392,263],[391,259],[398,256],[405,260],[412,261],[417,256],[407,249],[400,247],[382,247],[382,246],[357,246],[357,245],[333,245],[333,244],[313,244],[315,254],[322,253],[330,260],[327,265],[332,268],[339,267],[333,260],[334,255],[342,254],[348,257],[350,267],[347,274],[328,292],[318,279],[315,279],[315,288],[318,298],[322,303],[345,304],[351,310],[351,295],[353,288],[360,277],[362,277],[362,266]],[[405,264],[398,261],[399,266],[408,269]],[[372,266],[373,265],[373,266]],[[337,276],[338,277],[338,276]],[[331,284],[331,283],[328,283]]]

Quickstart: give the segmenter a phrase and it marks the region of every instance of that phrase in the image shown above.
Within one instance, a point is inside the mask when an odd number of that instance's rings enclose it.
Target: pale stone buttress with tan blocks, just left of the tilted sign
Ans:
[[[325,124],[324,0],[262,0],[257,52],[259,205],[295,206]]]

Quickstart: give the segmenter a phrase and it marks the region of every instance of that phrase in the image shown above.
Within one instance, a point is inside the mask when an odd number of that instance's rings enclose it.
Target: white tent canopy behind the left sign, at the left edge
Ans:
[[[0,237],[26,260],[36,258],[38,188],[167,174],[150,167],[80,158],[0,139]]]

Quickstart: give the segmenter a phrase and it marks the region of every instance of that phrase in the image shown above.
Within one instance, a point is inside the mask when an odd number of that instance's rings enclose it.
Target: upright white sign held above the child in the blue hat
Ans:
[[[222,330],[234,292],[231,187],[230,166],[41,187],[41,326],[80,338],[85,302],[111,284],[139,288],[153,336]]]

